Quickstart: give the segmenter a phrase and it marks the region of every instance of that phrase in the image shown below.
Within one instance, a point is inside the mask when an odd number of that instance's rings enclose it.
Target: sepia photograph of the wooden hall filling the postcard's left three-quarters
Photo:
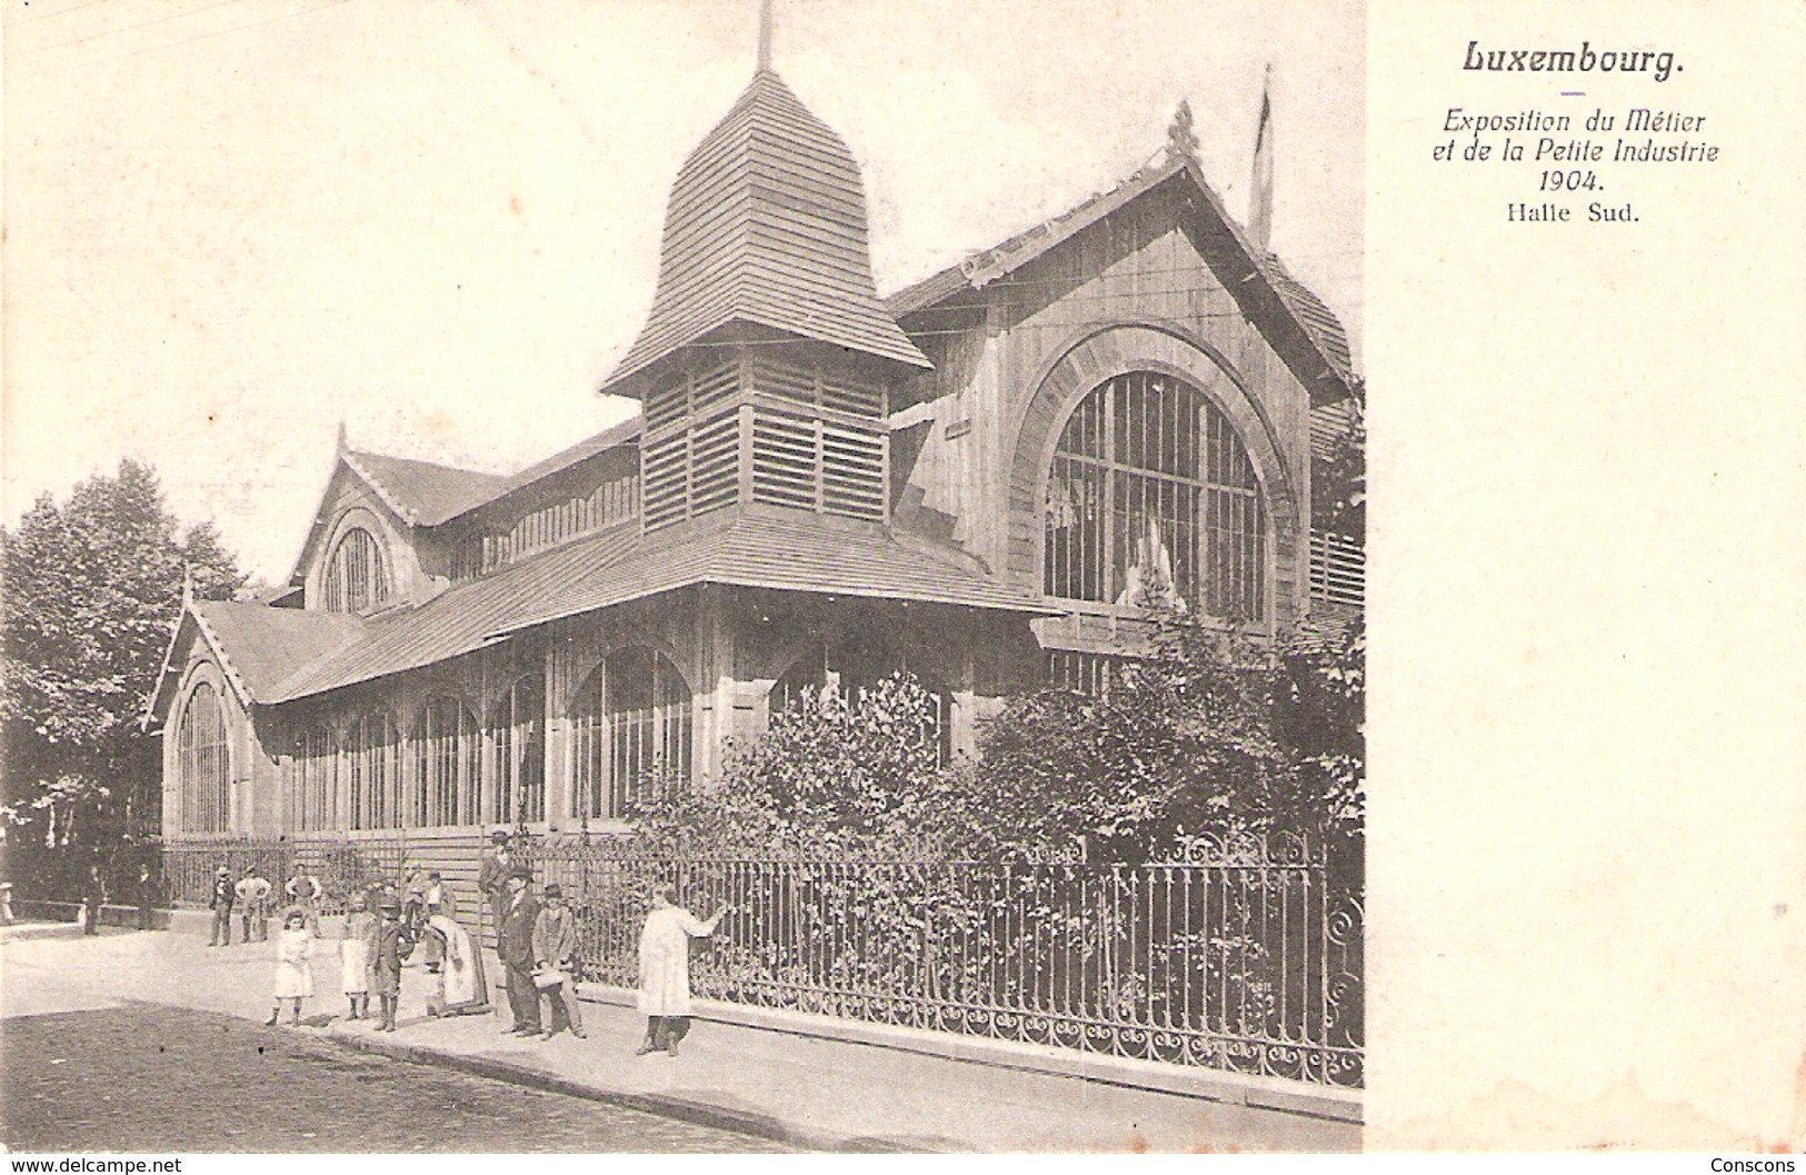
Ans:
[[[5,1146],[1360,1146],[1362,7],[1057,11],[7,13]]]

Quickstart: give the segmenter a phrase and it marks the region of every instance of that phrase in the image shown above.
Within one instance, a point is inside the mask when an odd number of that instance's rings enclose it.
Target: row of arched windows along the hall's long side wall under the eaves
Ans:
[[[573,813],[618,819],[654,779],[690,777],[690,687],[661,653],[619,649],[569,709]],[[403,739],[386,710],[314,727],[289,772],[296,830],[437,828],[545,819],[545,678],[517,678],[488,723],[430,698]],[[488,750],[488,754],[486,754]]]

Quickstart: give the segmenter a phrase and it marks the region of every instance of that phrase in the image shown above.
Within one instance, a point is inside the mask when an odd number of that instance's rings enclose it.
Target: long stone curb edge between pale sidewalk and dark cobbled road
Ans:
[[[753,1114],[749,1110],[730,1110],[726,1106],[717,1106],[704,1101],[692,1101],[688,1097],[607,1090],[571,1077],[560,1077],[558,1074],[549,1074],[542,1068],[533,1068],[529,1065],[515,1065],[511,1061],[477,1058],[461,1052],[428,1048],[423,1045],[408,1045],[403,1041],[374,1039],[361,1032],[350,1032],[343,1029],[327,1029],[321,1034],[321,1039],[338,1041],[359,1052],[383,1056],[392,1061],[452,1068],[455,1072],[470,1074],[473,1077],[488,1077],[491,1081],[504,1081],[507,1085],[544,1090],[547,1094],[563,1094],[567,1097],[582,1097],[583,1101],[594,1101],[609,1106],[621,1106],[625,1110],[639,1110],[641,1114],[670,1117],[690,1123],[694,1126],[708,1126],[713,1130],[726,1130],[730,1133],[753,1135],[757,1139],[784,1142],[789,1146],[798,1146],[802,1150],[829,1152],[829,1153],[880,1153],[880,1155],[923,1153],[926,1150],[923,1146],[905,1146],[901,1142],[892,1142],[889,1139],[838,1139],[838,1137],[816,1135],[807,1130],[798,1130],[795,1126],[789,1126],[784,1121],[771,1117],[768,1114]]]

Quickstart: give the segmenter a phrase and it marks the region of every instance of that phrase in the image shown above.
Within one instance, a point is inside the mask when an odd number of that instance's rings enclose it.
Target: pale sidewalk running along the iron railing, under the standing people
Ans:
[[[206,947],[173,933],[96,938],[0,935],[0,1014],[143,1000],[264,1020],[269,944]],[[740,1130],[815,1150],[945,1152],[1345,1152],[1360,1126],[999,1065],[697,1020],[683,1056],[636,1058],[643,1020],[583,1005],[589,1039],[502,1034],[500,1016],[430,1020],[428,978],[403,976],[397,1032],[347,1023],[336,994],[336,926],[314,964],[311,1027],[350,1047]],[[493,958],[491,958],[493,962]],[[491,967],[491,978],[498,969]],[[329,994],[330,992],[330,994]],[[506,992],[493,992],[506,1005]]]

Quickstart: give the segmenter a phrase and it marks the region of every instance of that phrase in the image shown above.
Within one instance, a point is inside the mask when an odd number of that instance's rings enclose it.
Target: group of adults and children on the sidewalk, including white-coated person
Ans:
[[[260,882],[251,884],[251,882]],[[558,882],[533,893],[533,871],[517,862],[506,832],[491,835],[477,884],[489,906],[497,958],[507,987],[511,1025],[502,1032],[551,1039],[569,1029],[583,1038],[583,1014],[576,994],[576,913],[565,902]],[[276,942],[275,1009],[265,1023],[276,1025],[284,1009],[289,1023],[302,1021],[302,1001],[314,994],[312,956],[320,936],[320,882],[294,866],[284,886],[289,902]],[[246,909],[246,942],[253,929],[253,907],[267,906],[269,882],[255,868],[233,884],[220,866],[213,891],[215,945],[229,944],[231,909]],[[639,1054],[663,1050],[677,1056],[677,1045],[690,1027],[690,938],[715,933],[726,907],[710,918],[697,918],[677,904],[674,886],[652,889],[652,909],[639,936],[639,1010],[647,1016],[647,1034]],[[226,911],[224,915],[220,911]],[[267,911],[265,915],[267,916]],[[262,927],[264,922],[255,926]],[[262,931],[267,935],[267,929]],[[424,971],[435,976],[428,992],[430,1016],[468,1016],[489,1010],[489,985],[484,976],[480,944],[457,918],[457,902],[444,879],[433,871],[426,886],[403,904],[394,882],[377,882],[349,900],[340,931],[340,980],[349,1001],[349,1020],[370,1020],[370,992],[377,996],[377,1032],[396,1030],[396,1005],[401,973],[415,947],[423,945]],[[542,1014],[544,1005],[544,1014]]]

